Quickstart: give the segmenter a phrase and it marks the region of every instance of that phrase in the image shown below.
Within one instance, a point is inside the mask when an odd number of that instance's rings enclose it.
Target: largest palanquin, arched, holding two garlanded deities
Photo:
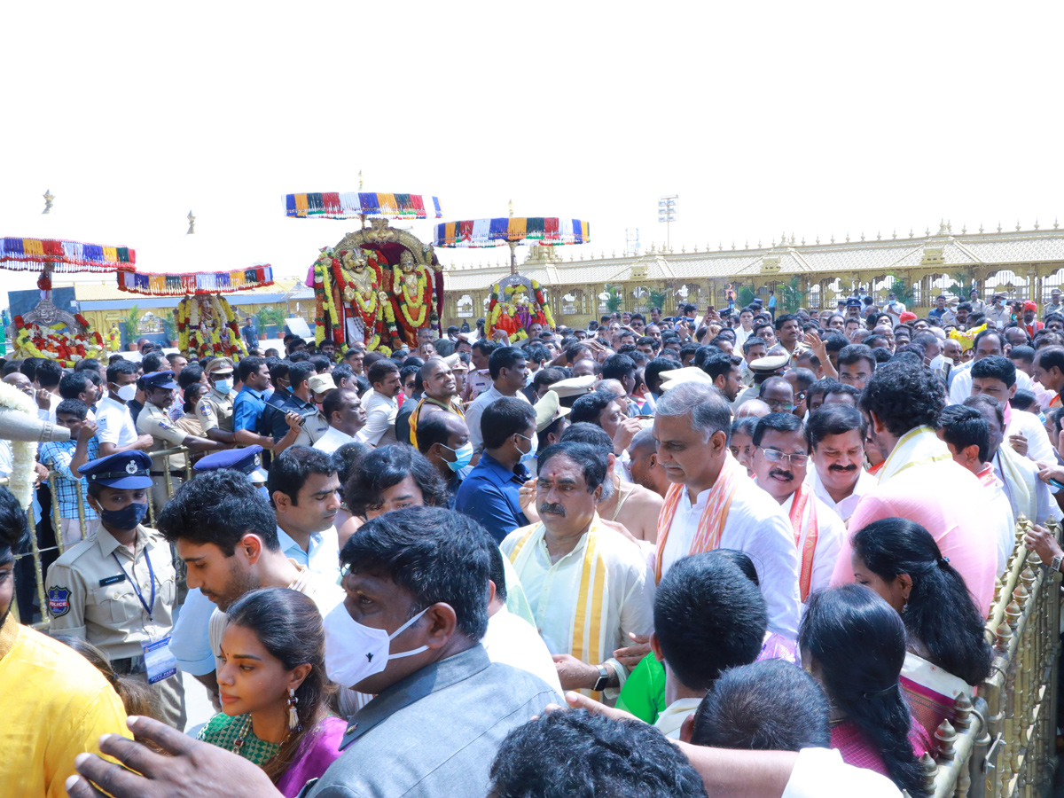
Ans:
[[[444,277],[432,247],[385,219],[346,235],[321,250],[313,275],[315,339],[340,350],[363,342],[369,351],[390,353],[417,346],[417,331],[439,332]]]

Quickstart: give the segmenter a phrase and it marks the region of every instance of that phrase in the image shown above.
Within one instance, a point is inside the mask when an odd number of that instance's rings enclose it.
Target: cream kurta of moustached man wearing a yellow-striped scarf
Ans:
[[[529,527],[522,527],[506,535],[500,546],[502,553],[511,556],[528,532]],[[631,645],[629,633],[649,634],[653,630],[654,575],[639,548],[619,533],[603,527],[599,530],[598,539],[605,565],[610,604],[601,610],[605,650],[600,652],[599,662],[591,664],[611,664],[624,685],[628,669],[613,659],[613,652]],[[583,535],[572,551],[553,564],[542,537],[526,545],[534,546],[530,556],[523,558],[522,554],[514,565],[532,608],[536,629],[552,654],[569,653],[573,618],[580,609],[580,581],[587,535]],[[618,693],[608,689],[605,696],[615,698]]]

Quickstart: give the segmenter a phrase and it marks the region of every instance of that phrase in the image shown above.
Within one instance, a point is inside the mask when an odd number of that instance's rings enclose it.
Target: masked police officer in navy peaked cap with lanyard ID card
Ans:
[[[150,466],[144,452],[123,451],[81,467],[100,528],[48,569],[48,612],[53,632],[85,638],[117,674],[148,684],[166,722],[184,730],[184,688],[168,647],[177,600],[173,553],[140,522]]]

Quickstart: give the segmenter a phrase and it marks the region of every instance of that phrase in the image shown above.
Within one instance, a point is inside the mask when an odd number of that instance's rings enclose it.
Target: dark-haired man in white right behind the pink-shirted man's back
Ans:
[[[990,425],[975,408],[950,404],[942,413],[938,437],[946,442],[953,462],[976,475],[986,492],[992,509],[992,517],[986,521],[996,530],[998,576],[1001,576],[1016,548],[1016,519],[1004,494],[1004,483],[994,473],[994,464],[990,462]]]

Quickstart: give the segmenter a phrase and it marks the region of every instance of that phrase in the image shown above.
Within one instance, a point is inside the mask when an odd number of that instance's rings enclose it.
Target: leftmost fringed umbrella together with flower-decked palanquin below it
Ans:
[[[135,268],[136,252],[129,247],[85,244],[61,237],[63,219],[52,213],[55,197],[45,192],[45,210],[29,227],[35,236],[0,238],[0,268],[37,271],[40,301],[24,315],[15,316],[15,351],[20,358],[49,358],[72,366],[84,358],[103,353],[103,338],[88,320],[52,302],[52,275],[79,271],[118,272]],[[29,232],[29,231],[27,231]]]

